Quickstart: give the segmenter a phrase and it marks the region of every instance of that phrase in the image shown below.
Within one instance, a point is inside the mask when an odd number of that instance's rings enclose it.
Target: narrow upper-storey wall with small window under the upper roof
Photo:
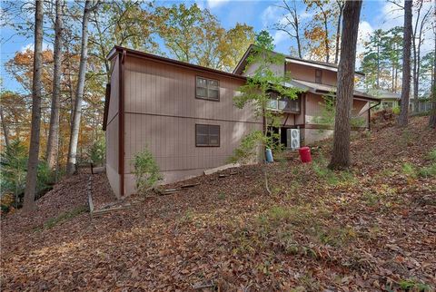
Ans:
[[[317,68],[302,65],[299,63],[286,63],[286,72],[291,73],[292,79],[315,82],[315,70]],[[330,70],[322,70],[322,83],[335,85],[337,83],[337,73]]]

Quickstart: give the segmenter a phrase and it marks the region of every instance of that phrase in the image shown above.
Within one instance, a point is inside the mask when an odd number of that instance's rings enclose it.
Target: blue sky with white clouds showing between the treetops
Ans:
[[[0,0],[1,1],[1,0]],[[277,7],[281,1],[275,0],[197,0],[195,1],[200,7],[208,8],[213,15],[216,15],[224,28],[231,28],[236,23],[245,23],[252,25],[256,32],[266,29],[274,37],[275,51],[283,54],[289,53],[293,42],[285,34],[272,29],[272,25],[282,18],[282,9]],[[157,4],[171,5],[176,1],[157,1]],[[431,2],[426,5],[431,5]],[[305,5],[297,1],[297,10],[299,14],[310,19],[311,13],[305,11]],[[2,20],[3,21],[3,20]],[[366,0],[363,1],[361,23],[359,25],[358,54],[363,51],[363,42],[368,39],[369,35],[375,29],[389,29],[396,25],[402,25],[402,11],[386,0]],[[5,90],[21,90],[19,84],[9,76],[4,69],[4,63],[11,59],[16,51],[23,51],[27,47],[33,46],[33,37],[30,38],[15,35],[10,28],[3,27],[0,31],[1,48],[0,63],[2,65],[0,74],[3,80]],[[46,47],[53,47],[53,44],[45,43]],[[422,54],[431,51],[432,41],[430,37],[424,42]],[[359,67],[359,62],[357,64]]]

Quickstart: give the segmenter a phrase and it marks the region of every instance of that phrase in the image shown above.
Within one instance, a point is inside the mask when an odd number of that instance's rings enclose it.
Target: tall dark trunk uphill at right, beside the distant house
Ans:
[[[401,111],[398,124],[404,127],[409,122],[409,95],[411,93],[411,0],[404,3],[404,36],[402,39]]]

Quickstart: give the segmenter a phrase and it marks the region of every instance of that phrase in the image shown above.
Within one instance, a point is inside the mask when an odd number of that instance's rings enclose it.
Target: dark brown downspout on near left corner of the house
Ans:
[[[119,140],[119,161],[118,172],[120,174],[120,196],[124,197],[124,61],[126,51],[123,50],[120,62],[120,98],[118,112],[120,115],[120,122],[118,125],[118,140]]]

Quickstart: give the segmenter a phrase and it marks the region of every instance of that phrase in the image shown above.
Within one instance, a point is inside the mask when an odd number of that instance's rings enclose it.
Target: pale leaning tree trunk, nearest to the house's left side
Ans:
[[[68,161],[66,164],[66,173],[71,175],[75,170],[75,157],[77,154],[77,142],[79,141],[80,118],[82,116],[82,102],[84,99],[84,77],[86,73],[86,61],[88,59],[88,23],[89,15],[93,7],[93,1],[86,0],[84,4],[84,18],[82,21],[82,47],[79,64],[79,76],[75,92],[73,122],[71,125],[70,145],[68,148]]]

